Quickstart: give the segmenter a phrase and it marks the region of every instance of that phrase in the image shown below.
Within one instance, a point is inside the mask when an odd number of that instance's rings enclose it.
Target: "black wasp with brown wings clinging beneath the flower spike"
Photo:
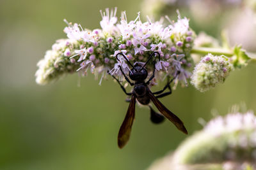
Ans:
[[[186,130],[186,127],[184,127],[183,122],[180,120],[179,117],[177,117],[176,115],[174,115],[172,113],[172,111],[168,110],[157,98],[160,97],[164,97],[167,96],[169,94],[172,94],[172,89],[170,87],[170,83],[172,83],[172,80],[167,81],[166,86],[163,88],[163,90],[159,90],[158,92],[151,92],[151,90],[149,89],[148,85],[150,83],[150,81],[154,78],[155,76],[155,69],[156,69],[156,62],[154,61],[154,71],[152,76],[148,79],[147,82],[145,82],[145,79],[148,76],[148,72],[147,69],[145,69],[145,66],[148,64],[148,62],[152,59],[152,57],[154,55],[158,55],[159,56],[159,60],[160,60],[160,54],[158,52],[153,52],[150,57],[148,58],[147,62],[145,62],[145,64],[143,66],[140,66],[139,64],[135,64],[134,66],[131,64],[131,62],[129,62],[129,60],[127,59],[127,57],[123,54],[123,53],[118,53],[116,55],[116,59],[118,61],[120,61],[118,59],[118,55],[122,55],[124,57],[124,59],[127,61],[127,63],[132,67],[131,71],[129,72],[129,77],[131,78],[131,80],[135,81],[134,83],[131,83],[131,81],[129,80],[129,78],[127,78],[127,76],[125,76],[124,71],[122,70],[122,67],[120,67],[120,71],[122,72],[122,74],[124,75],[125,80],[131,85],[134,86],[134,89],[132,90],[131,93],[126,92],[124,86],[120,83],[120,81],[113,76],[113,78],[119,83],[120,87],[122,88],[122,90],[125,92],[125,94],[127,94],[128,96],[131,96],[131,100],[130,104],[129,104],[129,108],[127,110],[127,113],[125,115],[124,118],[124,122],[120,127],[120,130],[118,132],[118,147],[119,148],[123,148],[125,146],[125,144],[127,143],[127,141],[130,138],[130,134],[131,134],[131,129],[132,129],[132,123],[135,117],[135,103],[136,103],[136,99],[140,104],[143,105],[147,105],[150,103],[150,101],[152,101],[156,108],[163,114],[161,115],[160,113],[157,113],[156,111],[154,111],[150,106],[150,120],[155,123],[155,124],[159,124],[161,122],[163,122],[164,117],[168,118],[168,120],[170,120],[180,131],[184,132],[185,134],[188,134],[188,131]],[[169,89],[169,92],[164,92],[164,90]],[[163,93],[164,92],[164,93]],[[157,95],[157,96],[155,96]]]

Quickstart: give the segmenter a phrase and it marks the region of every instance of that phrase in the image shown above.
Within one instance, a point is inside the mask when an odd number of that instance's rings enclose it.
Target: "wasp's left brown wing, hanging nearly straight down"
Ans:
[[[130,138],[132,131],[132,123],[135,117],[135,103],[136,97],[132,95],[129,108],[124,118],[124,122],[118,132],[118,147],[123,148]]]

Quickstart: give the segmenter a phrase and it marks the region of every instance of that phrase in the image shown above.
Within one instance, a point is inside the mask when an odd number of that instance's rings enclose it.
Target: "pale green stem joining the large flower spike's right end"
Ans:
[[[191,53],[207,55],[211,53],[212,55],[225,55],[227,57],[232,57],[234,52],[226,50],[223,48],[208,48],[208,47],[194,47],[191,50]]]

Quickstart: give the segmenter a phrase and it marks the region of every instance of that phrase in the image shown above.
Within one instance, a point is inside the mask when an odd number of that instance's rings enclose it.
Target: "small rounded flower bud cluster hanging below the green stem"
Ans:
[[[218,83],[223,83],[232,69],[233,66],[227,57],[209,53],[195,66],[191,83],[200,92],[205,92]]]

